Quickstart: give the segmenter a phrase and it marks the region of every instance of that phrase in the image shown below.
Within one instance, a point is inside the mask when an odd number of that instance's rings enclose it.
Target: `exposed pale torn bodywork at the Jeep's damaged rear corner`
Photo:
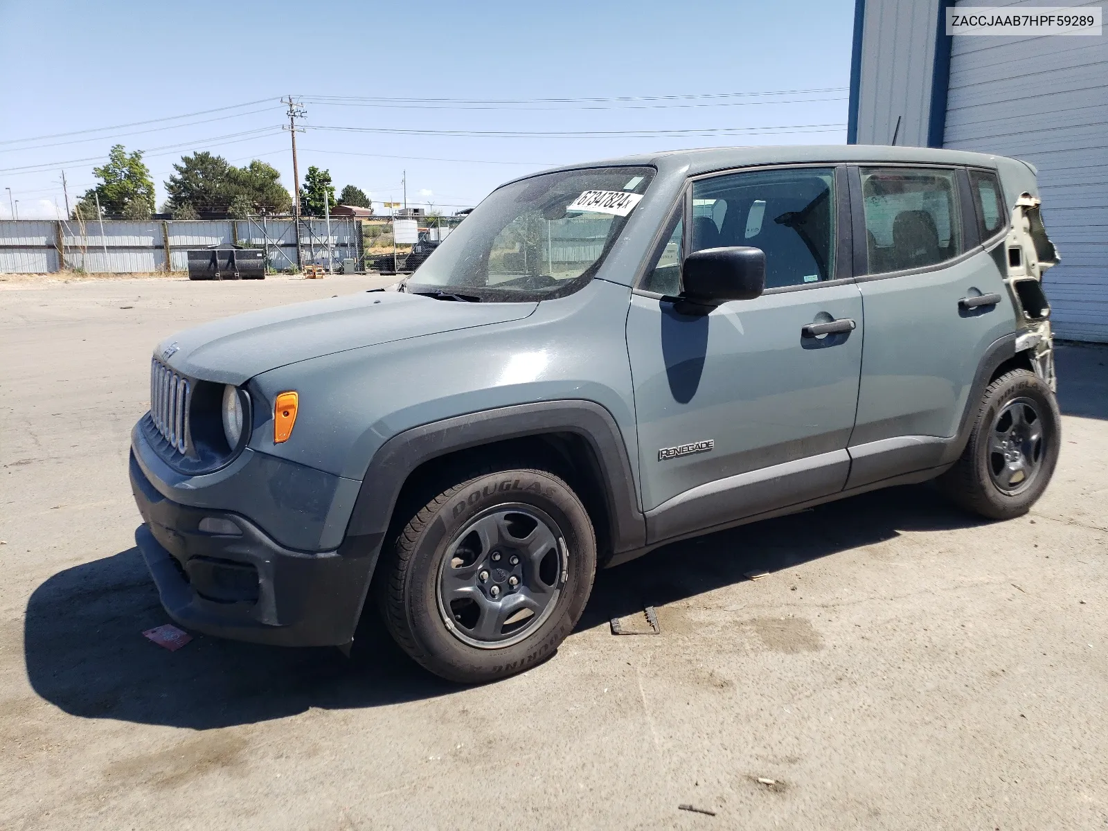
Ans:
[[[1019,335],[1016,351],[1026,351],[1035,373],[1057,390],[1054,372],[1054,336],[1050,332],[1050,304],[1043,293],[1043,273],[1058,265],[1061,257],[1046,235],[1040,201],[1029,193],[1016,199],[1012,226],[1004,240],[1007,277],[1005,283],[1016,307]]]

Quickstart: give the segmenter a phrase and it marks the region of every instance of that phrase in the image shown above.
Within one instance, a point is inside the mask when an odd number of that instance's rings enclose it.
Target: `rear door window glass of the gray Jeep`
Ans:
[[[863,167],[869,274],[922,268],[962,253],[952,170]]]

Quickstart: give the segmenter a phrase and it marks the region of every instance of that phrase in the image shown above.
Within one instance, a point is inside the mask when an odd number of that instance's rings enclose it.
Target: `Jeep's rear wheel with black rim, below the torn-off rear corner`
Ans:
[[[1016,369],[985,390],[962,455],[940,480],[958,505],[989,520],[1030,510],[1054,474],[1061,414],[1049,387]]]

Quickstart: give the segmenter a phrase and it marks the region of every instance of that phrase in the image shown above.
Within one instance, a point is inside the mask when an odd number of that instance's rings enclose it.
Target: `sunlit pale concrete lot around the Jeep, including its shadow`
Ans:
[[[1108,825],[1102,348],[1058,350],[1061,460],[1028,516],[901,488],[671,545],[500,684],[381,645],[147,642],[126,454],[153,345],[370,284],[0,285],[0,825]],[[609,633],[644,603],[660,636]]]

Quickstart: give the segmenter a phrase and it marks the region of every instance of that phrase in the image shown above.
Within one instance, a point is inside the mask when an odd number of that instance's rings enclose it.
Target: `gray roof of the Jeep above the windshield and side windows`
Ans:
[[[893,147],[878,144],[789,144],[755,147],[706,147],[702,150],[675,150],[596,162],[561,165],[552,171],[609,165],[650,165],[659,171],[687,167],[688,175],[730,170],[748,165],[797,164],[808,162],[923,162],[933,164],[976,164],[995,167],[996,156],[988,153],[970,153],[961,150],[934,147]],[[522,177],[527,178],[527,177]]]

